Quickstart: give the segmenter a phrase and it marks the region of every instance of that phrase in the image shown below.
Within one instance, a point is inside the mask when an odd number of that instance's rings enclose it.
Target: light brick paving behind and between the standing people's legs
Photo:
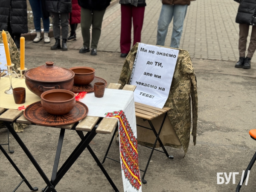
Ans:
[[[157,21],[162,3],[160,0],[146,0],[141,41],[156,44]],[[196,0],[188,6],[184,20],[180,48],[189,51],[191,58],[221,61],[239,59],[239,24],[235,22],[239,4],[233,0]],[[170,46],[172,25],[169,25],[165,46]],[[102,23],[99,51],[120,52],[121,10],[116,3],[107,9]],[[250,32],[251,33],[251,27]],[[133,41],[133,40],[132,40]],[[247,39],[249,45],[250,35]],[[32,43],[32,42],[29,42]],[[52,46],[51,44],[45,46]],[[83,44],[81,28],[77,29],[77,41],[68,42],[69,49],[80,49]],[[256,62],[256,57],[252,58]]]

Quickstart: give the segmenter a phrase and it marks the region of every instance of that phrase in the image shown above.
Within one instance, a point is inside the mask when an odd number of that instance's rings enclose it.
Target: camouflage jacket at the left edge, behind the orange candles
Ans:
[[[11,61],[12,61],[12,64],[14,64],[15,72],[17,73],[18,72],[17,68],[20,67],[20,54],[9,32],[6,31],[6,35],[7,35],[7,41],[11,49],[10,50]],[[0,32],[0,44],[3,44],[2,32]],[[0,68],[5,64],[6,63],[3,63],[2,65],[0,65]]]

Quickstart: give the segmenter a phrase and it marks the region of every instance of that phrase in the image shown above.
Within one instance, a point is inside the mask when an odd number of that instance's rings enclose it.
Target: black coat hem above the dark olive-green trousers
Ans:
[[[102,11],[106,9],[111,0],[78,0],[78,4],[84,9]]]

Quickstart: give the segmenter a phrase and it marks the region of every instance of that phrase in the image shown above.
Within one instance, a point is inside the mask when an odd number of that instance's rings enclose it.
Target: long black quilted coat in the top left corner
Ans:
[[[28,32],[26,0],[0,0],[0,31],[10,31],[12,34]],[[10,28],[8,21],[10,20]]]

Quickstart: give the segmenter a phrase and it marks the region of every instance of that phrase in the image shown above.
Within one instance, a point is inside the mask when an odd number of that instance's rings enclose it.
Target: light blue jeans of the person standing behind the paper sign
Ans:
[[[183,21],[186,16],[188,5],[165,5],[163,4],[157,27],[157,45],[164,46],[168,26],[173,17],[173,29],[171,46],[179,48],[180,38],[183,30]]]

